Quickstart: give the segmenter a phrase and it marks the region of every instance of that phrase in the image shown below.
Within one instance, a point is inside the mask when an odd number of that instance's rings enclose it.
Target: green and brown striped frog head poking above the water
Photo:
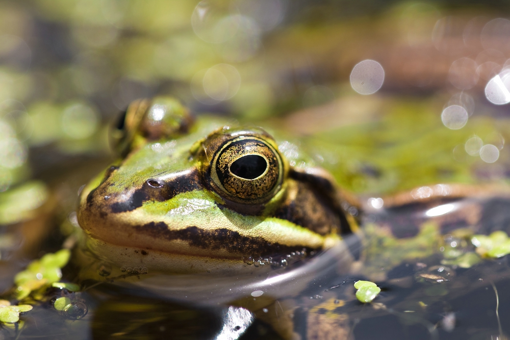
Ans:
[[[319,168],[291,167],[258,127],[224,125],[171,98],[131,104],[121,158],[81,192],[87,247],[119,266],[246,271],[340,242],[349,204]]]

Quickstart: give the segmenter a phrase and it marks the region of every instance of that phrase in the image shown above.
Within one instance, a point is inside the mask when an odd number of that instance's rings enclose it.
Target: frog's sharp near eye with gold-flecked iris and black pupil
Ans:
[[[261,203],[274,196],[282,184],[282,158],[263,139],[238,137],[226,142],[214,155],[211,178],[226,198]]]

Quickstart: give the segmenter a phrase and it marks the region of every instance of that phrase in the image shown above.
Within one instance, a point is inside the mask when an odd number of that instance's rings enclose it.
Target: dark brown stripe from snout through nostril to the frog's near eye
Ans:
[[[156,187],[154,181],[157,181],[161,186]],[[201,188],[196,168],[192,168],[190,171],[183,171],[180,175],[176,175],[168,180],[149,178],[141,188],[133,192],[129,199],[112,203],[110,210],[112,213],[130,212],[142,206],[144,202],[163,202],[178,194]]]

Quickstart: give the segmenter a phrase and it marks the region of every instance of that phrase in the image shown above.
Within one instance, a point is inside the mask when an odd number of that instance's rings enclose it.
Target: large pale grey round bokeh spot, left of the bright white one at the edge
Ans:
[[[373,94],[384,82],[384,69],[374,60],[364,60],[352,68],[350,83],[359,94]]]

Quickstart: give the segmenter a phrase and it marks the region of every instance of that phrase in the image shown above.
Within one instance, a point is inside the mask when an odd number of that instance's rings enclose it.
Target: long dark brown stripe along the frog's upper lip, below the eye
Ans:
[[[188,242],[192,247],[211,250],[226,249],[228,252],[249,254],[250,256],[291,253],[303,248],[302,246],[290,247],[268,242],[262,237],[244,236],[226,228],[205,230],[190,226],[180,230],[170,230],[165,222],[149,222],[134,228],[155,239],[182,240]]]

